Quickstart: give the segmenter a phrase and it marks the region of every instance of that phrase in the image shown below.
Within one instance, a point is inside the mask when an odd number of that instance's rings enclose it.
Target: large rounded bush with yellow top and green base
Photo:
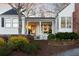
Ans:
[[[28,39],[25,36],[10,36],[8,40],[8,48],[12,50],[20,50],[24,45],[29,44]]]

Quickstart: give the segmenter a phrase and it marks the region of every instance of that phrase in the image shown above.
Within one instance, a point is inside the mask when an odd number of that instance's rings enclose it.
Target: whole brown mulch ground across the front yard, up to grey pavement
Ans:
[[[57,53],[79,47],[79,41],[34,40],[33,42],[41,46],[41,50],[38,51],[38,54],[28,55],[21,51],[14,51],[11,55],[12,56],[55,56]],[[65,44],[63,42],[65,42]]]

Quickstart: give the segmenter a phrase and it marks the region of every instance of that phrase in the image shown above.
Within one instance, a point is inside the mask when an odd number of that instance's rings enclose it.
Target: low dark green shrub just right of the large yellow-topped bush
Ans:
[[[22,48],[22,51],[24,51],[28,54],[37,54],[38,50],[40,50],[40,46],[38,44],[35,44],[35,43],[25,45]]]

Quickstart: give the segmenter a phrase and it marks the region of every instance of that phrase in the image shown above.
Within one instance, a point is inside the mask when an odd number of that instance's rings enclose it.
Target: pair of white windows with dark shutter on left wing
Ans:
[[[17,28],[18,27],[18,19],[12,19],[12,18],[1,18],[1,27],[6,28]]]

